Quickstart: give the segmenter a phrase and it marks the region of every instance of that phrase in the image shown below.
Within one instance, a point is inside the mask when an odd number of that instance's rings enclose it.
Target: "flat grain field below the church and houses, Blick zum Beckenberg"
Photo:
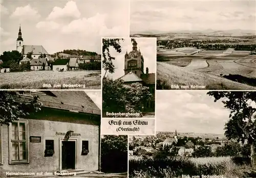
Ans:
[[[100,71],[30,71],[0,74],[2,89],[100,89]],[[45,84],[45,85],[44,85]],[[47,85],[46,85],[47,84]],[[63,84],[73,84],[63,85]],[[77,84],[77,85],[76,85]]]

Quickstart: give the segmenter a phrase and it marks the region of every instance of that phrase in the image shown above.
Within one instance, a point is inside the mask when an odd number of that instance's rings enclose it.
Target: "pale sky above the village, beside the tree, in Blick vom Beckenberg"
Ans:
[[[158,91],[156,130],[224,134],[229,110],[206,91]]]

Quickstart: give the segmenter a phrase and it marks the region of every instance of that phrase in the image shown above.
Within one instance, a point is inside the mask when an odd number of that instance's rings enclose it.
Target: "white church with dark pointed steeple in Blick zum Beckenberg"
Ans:
[[[41,55],[49,56],[48,52],[41,45],[24,45],[20,25],[18,30],[18,38],[16,40],[16,50],[22,53],[24,58],[27,57],[28,53],[32,53],[31,57],[33,59],[38,59]]]

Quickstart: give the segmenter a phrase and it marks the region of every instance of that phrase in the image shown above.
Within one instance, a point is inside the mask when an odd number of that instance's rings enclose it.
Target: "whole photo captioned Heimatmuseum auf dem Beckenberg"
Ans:
[[[100,91],[0,91],[0,177],[127,177],[127,136],[100,134],[100,107]]]

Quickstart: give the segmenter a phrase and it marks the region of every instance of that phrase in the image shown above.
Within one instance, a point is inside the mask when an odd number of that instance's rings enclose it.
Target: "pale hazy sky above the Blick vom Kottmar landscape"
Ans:
[[[179,30],[253,30],[255,1],[132,1],[131,33]]]

